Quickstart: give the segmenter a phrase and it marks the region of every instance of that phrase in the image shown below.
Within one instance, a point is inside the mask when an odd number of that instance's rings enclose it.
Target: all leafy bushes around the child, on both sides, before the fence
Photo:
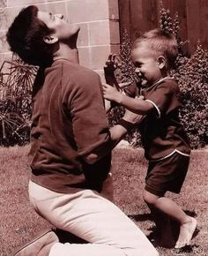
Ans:
[[[190,146],[192,148],[204,147],[208,144],[208,52],[198,42],[196,52],[192,56],[188,56],[183,50],[187,41],[182,41],[180,37],[178,14],[175,13],[175,17],[172,19],[170,11],[163,8],[162,1],[159,1],[159,3],[160,28],[168,33],[175,34],[178,43],[179,55],[172,75],[182,91],[182,109],[180,112],[182,124],[188,133]],[[125,32],[120,49],[122,65],[115,72],[119,82],[131,80],[132,83],[137,83],[130,53],[130,37]],[[115,107],[109,116],[110,124],[116,124],[118,119],[122,117],[123,112],[123,108]],[[140,146],[140,135],[137,130],[131,132],[126,139],[133,146]]]

